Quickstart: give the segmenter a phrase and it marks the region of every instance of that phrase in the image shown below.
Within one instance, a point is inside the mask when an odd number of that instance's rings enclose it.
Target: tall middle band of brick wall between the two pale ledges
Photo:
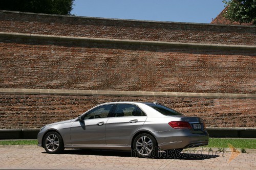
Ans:
[[[2,37],[0,88],[255,93],[255,51]]]

